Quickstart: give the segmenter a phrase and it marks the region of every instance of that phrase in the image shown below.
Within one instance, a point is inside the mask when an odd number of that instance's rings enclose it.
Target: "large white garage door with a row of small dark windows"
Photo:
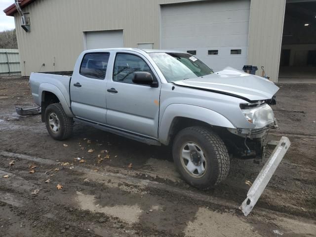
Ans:
[[[250,0],[161,7],[161,48],[189,51],[214,71],[247,64]]]

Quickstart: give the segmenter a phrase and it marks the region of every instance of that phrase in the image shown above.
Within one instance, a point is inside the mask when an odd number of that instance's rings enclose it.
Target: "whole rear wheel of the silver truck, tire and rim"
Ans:
[[[65,140],[73,131],[73,119],[69,118],[60,103],[50,104],[45,110],[45,125],[55,140]]]

